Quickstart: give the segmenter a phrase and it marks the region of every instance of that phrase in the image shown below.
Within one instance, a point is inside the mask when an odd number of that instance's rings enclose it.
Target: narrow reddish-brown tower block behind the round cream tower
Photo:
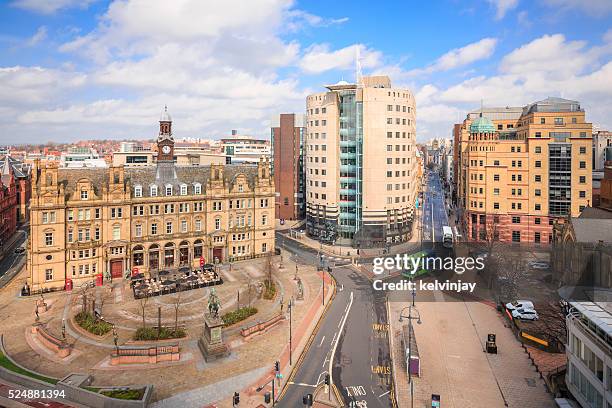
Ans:
[[[306,214],[305,132],[304,115],[281,113],[272,119],[270,139],[277,219],[298,220]]]

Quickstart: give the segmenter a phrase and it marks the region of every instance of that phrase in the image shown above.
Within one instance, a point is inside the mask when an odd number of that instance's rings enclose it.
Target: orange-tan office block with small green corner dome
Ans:
[[[467,238],[551,242],[555,219],[592,205],[591,135],[584,109],[567,99],[470,113],[458,179]]]

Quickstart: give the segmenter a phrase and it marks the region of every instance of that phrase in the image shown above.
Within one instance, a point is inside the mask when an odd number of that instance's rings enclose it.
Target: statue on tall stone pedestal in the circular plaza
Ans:
[[[208,313],[204,313],[204,332],[198,340],[198,346],[204,360],[212,361],[229,355],[229,347],[223,341],[223,320],[219,317],[221,302],[215,292],[210,291]]]

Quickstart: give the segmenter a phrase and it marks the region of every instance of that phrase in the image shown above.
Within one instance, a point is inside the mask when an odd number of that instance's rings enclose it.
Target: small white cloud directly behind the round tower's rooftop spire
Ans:
[[[355,67],[356,47],[359,47],[362,68],[375,68],[382,63],[382,53],[363,44],[349,45],[334,51],[330,50],[328,44],[315,44],[306,50],[299,63],[300,68],[308,74],[319,74],[333,69],[352,69]]]

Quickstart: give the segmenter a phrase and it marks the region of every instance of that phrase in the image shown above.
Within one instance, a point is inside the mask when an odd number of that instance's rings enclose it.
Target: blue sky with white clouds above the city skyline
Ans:
[[[610,0],[9,0],[0,4],[0,143],[268,136],[322,85],[387,74],[417,140],[469,109],[579,100],[612,129]]]

